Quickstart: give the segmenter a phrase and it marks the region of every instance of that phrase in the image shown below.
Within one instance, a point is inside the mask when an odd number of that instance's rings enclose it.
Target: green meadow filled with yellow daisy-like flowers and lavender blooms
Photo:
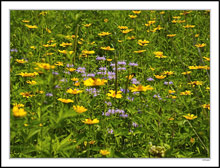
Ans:
[[[209,10],[11,10],[11,158],[209,158]]]

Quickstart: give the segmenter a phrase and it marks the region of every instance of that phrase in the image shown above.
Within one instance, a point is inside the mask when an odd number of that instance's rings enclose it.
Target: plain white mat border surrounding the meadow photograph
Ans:
[[[219,2],[213,1],[54,1],[54,2],[30,2],[11,1],[1,2],[2,8],[2,86],[1,100],[1,164],[2,166],[219,166]],[[9,159],[9,34],[10,34],[10,10],[211,10],[211,159]]]

